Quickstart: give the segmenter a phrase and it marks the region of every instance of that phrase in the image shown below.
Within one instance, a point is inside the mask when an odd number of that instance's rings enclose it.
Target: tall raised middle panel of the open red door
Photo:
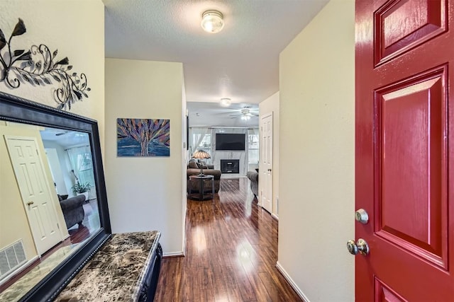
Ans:
[[[375,233],[446,269],[445,77],[442,67],[375,92]]]

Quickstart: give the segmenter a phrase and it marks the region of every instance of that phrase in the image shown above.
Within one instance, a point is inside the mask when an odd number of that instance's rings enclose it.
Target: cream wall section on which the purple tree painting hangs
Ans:
[[[104,171],[112,231],[159,230],[167,255],[183,251],[183,91],[181,63],[106,59]],[[120,117],[170,119],[170,157],[117,157]]]

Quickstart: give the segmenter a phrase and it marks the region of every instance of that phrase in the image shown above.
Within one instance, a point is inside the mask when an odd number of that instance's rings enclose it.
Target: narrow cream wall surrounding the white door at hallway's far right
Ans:
[[[258,105],[260,117],[259,117],[259,129],[261,127],[261,119],[263,116],[272,113],[272,134],[273,134],[273,146],[272,146],[272,215],[279,217],[278,213],[278,200],[279,200],[279,91],[263,100]],[[260,131],[261,133],[261,131]],[[261,134],[260,134],[260,137]],[[262,141],[260,140],[260,150],[262,149]],[[260,153],[259,162],[262,163],[262,153]],[[262,170],[260,167],[259,170]],[[259,192],[262,192],[263,178],[258,178],[259,181]],[[259,193],[260,194],[260,193]],[[260,194],[260,197],[262,195]],[[261,202],[261,200],[260,200]]]

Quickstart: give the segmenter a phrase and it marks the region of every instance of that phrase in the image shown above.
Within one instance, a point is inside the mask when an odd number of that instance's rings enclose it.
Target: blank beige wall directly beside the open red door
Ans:
[[[353,0],[331,0],[280,54],[278,266],[307,300],[354,301]]]

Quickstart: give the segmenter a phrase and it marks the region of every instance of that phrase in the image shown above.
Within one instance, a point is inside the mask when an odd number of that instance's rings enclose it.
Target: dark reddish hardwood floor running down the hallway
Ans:
[[[277,270],[277,221],[247,178],[187,200],[186,256],[165,257],[155,301],[302,301]]]

